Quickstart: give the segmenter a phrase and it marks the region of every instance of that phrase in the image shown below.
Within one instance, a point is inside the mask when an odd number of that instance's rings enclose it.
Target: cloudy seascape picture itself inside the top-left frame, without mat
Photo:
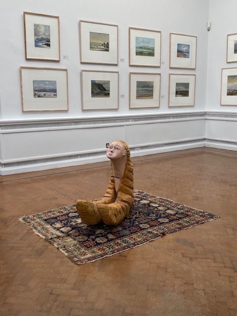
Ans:
[[[34,24],[35,47],[50,48],[50,25]]]

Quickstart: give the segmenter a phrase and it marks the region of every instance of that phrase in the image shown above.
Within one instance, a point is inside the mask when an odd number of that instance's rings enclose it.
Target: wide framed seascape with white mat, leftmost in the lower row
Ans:
[[[68,111],[68,71],[20,67],[23,112]]]

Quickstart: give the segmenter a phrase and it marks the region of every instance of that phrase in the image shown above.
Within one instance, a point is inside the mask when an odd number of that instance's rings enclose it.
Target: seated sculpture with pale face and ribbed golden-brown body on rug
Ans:
[[[129,213],[133,202],[133,166],[130,150],[123,141],[113,141],[106,156],[111,160],[109,187],[99,200],[78,199],[77,210],[81,221],[87,225],[103,222],[118,225]]]

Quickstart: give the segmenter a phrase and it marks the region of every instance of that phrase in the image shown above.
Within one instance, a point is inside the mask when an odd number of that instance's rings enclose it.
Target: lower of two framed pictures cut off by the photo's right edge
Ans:
[[[221,105],[237,105],[237,68],[222,69]]]

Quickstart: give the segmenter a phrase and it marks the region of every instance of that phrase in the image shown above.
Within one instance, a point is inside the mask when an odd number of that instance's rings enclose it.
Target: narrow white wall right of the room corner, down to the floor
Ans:
[[[227,63],[227,35],[237,33],[237,2],[210,0],[206,83],[206,146],[237,150],[237,106],[220,105],[222,69]]]

